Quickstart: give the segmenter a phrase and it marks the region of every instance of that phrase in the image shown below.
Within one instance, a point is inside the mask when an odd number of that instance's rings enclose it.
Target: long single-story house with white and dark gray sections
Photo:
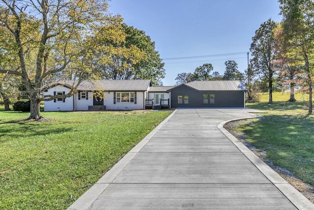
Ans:
[[[73,81],[56,83],[45,94],[67,94],[71,84]],[[73,96],[45,101],[44,111],[244,108],[246,91],[243,82],[237,80],[194,81],[179,86],[152,86],[150,80],[86,80]]]

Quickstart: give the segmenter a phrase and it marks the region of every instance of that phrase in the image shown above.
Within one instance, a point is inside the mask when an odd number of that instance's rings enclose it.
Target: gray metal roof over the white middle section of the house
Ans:
[[[78,90],[105,90],[105,91],[146,91],[151,80],[96,80],[82,81]]]

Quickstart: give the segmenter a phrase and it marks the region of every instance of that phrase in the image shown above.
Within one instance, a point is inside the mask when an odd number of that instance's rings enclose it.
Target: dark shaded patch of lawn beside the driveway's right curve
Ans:
[[[276,110],[280,110],[280,106],[277,105]],[[256,148],[265,150],[267,158],[275,165],[313,185],[314,118],[311,114],[278,113],[244,124],[240,131]]]

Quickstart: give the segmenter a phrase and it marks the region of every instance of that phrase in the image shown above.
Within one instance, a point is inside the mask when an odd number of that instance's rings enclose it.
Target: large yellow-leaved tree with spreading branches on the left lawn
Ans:
[[[91,75],[92,50],[102,47],[97,43],[125,39],[121,22],[107,14],[103,0],[0,0],[0,27],[8,34],[12,62],[18,59],[14,68],[1,68],[0,73],[22,78],[30,97],[29,119],[42,118],[40,101],[75,93]],[[77,81],[69,94],[42,95],[45,83],[63,76]]]

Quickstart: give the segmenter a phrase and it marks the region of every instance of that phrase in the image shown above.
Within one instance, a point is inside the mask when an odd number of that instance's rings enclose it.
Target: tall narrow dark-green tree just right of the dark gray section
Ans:
[[[252,44],[250,51],[253,58],[251,59],[254,72],[261,75],[262,78],[268,80],[268,103],[272,103],[272,84],[274,82],[275,68],[275,39],[274,29],[276,29],[277,23],[268,19],[262,23],[260,28],[255,31],[255,36],[252,38]]]

